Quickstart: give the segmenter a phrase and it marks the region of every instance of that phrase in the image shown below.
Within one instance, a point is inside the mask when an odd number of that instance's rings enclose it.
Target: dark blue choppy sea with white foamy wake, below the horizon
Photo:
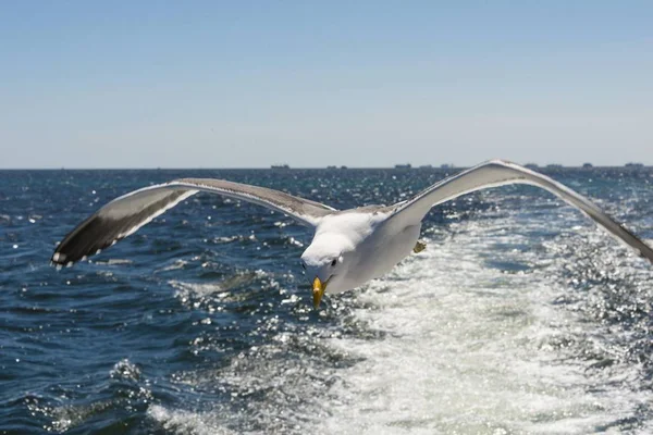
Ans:
[[[653,170],[547,173],[653,239]],[[218,196],[49,265],[101,204],[175,177],[349,208],[446,174],[0,171],[0,434],[653,432],[653,266],[534,187],[433,209],[426,251],[317,311],[309,231]]]

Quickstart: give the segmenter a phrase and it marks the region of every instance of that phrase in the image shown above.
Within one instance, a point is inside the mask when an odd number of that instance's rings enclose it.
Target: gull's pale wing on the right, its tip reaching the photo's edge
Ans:
[[[558,196],[560,199],[584,212],[599,225],[630,245],[641,257],[649,259],[653,263],[653,249],[621,224],[605,214],[603,210],[589,199],[545,175],[503,160],[492,160],[481,163],[478,166],[435,183],[411,200],[401,203],[390,217],[390,222],[396,220],[397,223],[417,223],[423,219],[433,206],[475,190],[516,183],[538,186]]]

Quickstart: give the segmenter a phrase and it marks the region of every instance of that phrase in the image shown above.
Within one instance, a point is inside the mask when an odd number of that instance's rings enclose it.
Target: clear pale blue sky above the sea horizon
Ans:
[[[653,1],[2,1],[0,167],[653,164]]]

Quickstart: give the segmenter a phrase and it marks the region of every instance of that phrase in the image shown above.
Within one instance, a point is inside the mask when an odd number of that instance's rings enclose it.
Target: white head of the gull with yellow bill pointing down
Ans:
[[[330,294],[348,289],[345,287],[345,276],[353,250],[347,237],[326,233],[316,235],[301,254],[301,266],[312,286],[315,308],[320,306],[326,288]]]

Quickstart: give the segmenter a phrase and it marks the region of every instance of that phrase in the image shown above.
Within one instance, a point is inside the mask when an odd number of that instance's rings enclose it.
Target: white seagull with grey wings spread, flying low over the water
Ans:
[[[99,253],[190,196],[207,191],[267,207],[312,228],[315,235],[301,254],[301,266],[311,284],[317,309],[324,293],[360,287],[390,272],[411,252],[422,250],[421,222],[432,207],[508,184],[549,190],[653,263],[653,249],[589,199],[545,175],[504,160],[491,160],[463,171],[394,206],[349,210],[224,179],[175,179],[134,190],[107,203],[64,237],[51,261],[58,268],[70,266]]]

